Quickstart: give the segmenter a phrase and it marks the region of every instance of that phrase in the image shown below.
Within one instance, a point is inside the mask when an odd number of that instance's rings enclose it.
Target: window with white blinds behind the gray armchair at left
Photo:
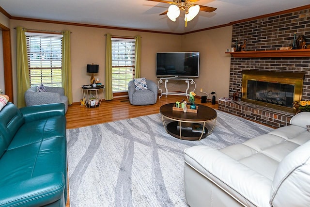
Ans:
[[[62,87],[62,35],[25,32],[30,86]]]

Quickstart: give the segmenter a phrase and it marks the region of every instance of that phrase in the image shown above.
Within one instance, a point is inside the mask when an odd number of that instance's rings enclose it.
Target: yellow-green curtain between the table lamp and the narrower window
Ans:
[[[105,88],[105,99],[113,99],[112,91],[112,43],[111,43],[111,34],[107,35],[106,41],[106,88]]]

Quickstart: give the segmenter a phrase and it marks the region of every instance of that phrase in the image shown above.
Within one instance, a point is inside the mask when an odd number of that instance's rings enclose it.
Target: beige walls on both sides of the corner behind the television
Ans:
[[[0,22],[1,23],[1,22]],[[232,27],[225,27],[187,35],[160,34],[152,32],[135,32],[112,30],[73,25],[50,24],[41,22],[11,20],[12,60],[14,78],[14,99],[16,100],[16,30],[17,26],[28,29],[63,31],[71,33],[71,66],[73,102],[82,98],[80,85],[89,84],[90,74],[86,73],[86,64],[99,64],[99,78],[105,80],[105,34],[120,36],[140,35],[141,39],[141,77],[154,80],[156,52],[200,51],[200,78],[196,79],[196,92],[200,88],[210,93],[217,92],[217,96],[228,96],[230,56],[224,52],[231,48]],[[185,91],[184,81],[171,81],[169,91]],[[163,85],[160,86],[163,88]],[[190,88],[192,89],[192,86]]]

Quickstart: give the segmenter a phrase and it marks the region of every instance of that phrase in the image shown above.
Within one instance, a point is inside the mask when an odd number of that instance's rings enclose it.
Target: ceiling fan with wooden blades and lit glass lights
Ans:
[[[180,16],[180,10],[185,11],[185,27],[187,26],[187,22],[192,20],[195,16],[197,16],[199,11],[203,12],[214,12],[217,8],[210,6],[202,6],[198,4],[194,4],[199,0],[150,0],[162,3],[171,4],[168,8],[168,11],[161,13],[160,15],[166,15],[171,19],[171,21],[175,21],[178,16]]]

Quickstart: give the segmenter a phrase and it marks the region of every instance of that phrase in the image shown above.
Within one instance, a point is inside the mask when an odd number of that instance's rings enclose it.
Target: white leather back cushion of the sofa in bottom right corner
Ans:
[[[310,141],[297,147],[279,163],[272,183],[271,206],[309,206],[309,149]]]

